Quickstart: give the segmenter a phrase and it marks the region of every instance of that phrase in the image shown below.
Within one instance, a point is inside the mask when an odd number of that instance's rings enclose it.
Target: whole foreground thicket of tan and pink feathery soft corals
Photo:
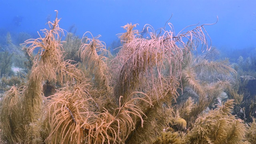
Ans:
[[[170,23],[146,25],[144,38],[127,24],[113,56],[90,32],[64,43],[56,12],[44,36],[24,43],[28,75],[1,100],[1,143],[255,143],[255,119],[247,127],[232,115],[243,101],[232,87],[237,71],[214,61],[205,25],[178,35]],[[206,54],[194,56],[198,46]],[[234,100],[205,112],[222,92]]]

